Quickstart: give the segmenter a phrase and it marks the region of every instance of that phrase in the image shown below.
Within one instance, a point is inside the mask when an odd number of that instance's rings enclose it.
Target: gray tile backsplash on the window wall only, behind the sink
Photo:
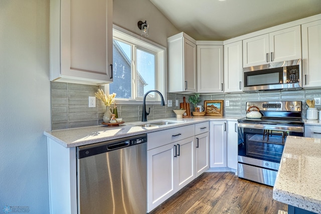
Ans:
[[[88,107],[88,96],[95,96],[99,88],[95,85],[65,82],[51,83],[52,130],[101,125],[106,106],[96,99],[96,108]],[[168,99],[183,102],[182,94],[168,93]],[[116,102],[117,104],[117,102]],[[147,105],[148,120],[173,118],[176,106]],[[111,108],[113,110],[113,108]],[[137,105],[118,105],[118,117],[125,122],[141,121],[142,101]]]

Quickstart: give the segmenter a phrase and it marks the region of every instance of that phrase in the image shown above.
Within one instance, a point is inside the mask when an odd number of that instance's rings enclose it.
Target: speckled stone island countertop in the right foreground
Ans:
[[[273,199],[321,213],[321,139],[288,136]]]

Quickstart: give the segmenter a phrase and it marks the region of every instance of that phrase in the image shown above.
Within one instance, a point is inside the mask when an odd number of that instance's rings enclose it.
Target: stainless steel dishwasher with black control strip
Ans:
[[[147,135],[77,147],[78,213],[146,213]]]

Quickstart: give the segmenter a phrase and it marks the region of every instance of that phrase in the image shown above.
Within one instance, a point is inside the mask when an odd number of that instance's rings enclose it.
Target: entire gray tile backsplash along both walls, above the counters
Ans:
[[[106,106],[102,101],[96,99],[96,107],[88,107],[88,96],[95,96],[98,88],[97,85],[51,82],[52,130],[100,125],[103,122],[102,116],[106,111]],[[188,94],[167,94],[167,99],[173,100],[173,107],[147,105],[147,108],[150,108],[147,119],[175,117],[173,110],[178,108],[175,106],[175,100],[183,102],[183,96],[186,96],[188,101]],[[313,97],[321,97],[321,88],[298,91],[201,95],[200,104],[204,105],[204,100],[229,100],[230,105],[224,106],[224,116],[245,117],[247,101],[300,100],[303,102],[305,99],[313,99]],[[321,108],[321,106],[316,106],[316,108]],[[307,105],[303,104],[303,118],[305,118],[306,109]],[[125,122],[140,121],[142,103],[137,105],[117,104],[117,112],[118,117],[123,118]]]

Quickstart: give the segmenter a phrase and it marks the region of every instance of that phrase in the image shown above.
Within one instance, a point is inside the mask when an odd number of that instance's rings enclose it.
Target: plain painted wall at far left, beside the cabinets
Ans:
[[[49,212],[50,126],[49,0],[1,0],[0,212]]]

